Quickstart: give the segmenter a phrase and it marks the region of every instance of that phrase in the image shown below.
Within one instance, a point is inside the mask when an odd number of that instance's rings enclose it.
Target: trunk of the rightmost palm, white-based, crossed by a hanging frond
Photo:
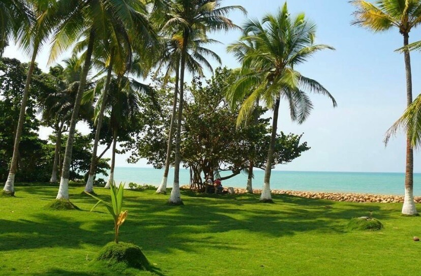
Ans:
[[[408,45],[409,35],[404,34],[404,46]],[[412,103],[412,73],[411,73],[411,58],[409,51],[404,52],[405,57],[405,72],[406,72],[406,99],[407,106]],[[410,138],[406,137],[406,170],[405,170],[405,198],[402,206],[402,213],[406,215],[417,214],[414,195],[413,195],[413,171],[414,159],[413,150]]]

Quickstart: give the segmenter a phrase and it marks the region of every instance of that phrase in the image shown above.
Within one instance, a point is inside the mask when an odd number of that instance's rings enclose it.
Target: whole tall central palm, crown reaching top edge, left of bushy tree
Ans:
[[[206,35],[206,32],[236,28],[237,26],[226,16],[233,10],[240,10],[246,13],[245,9],[241,6],[221,7],[221,2],[221,0],[172,0],[168,4],[169,18],[164,25],[163,30],[168,32],[168,34],[179,33],[182,37],[179,73],[179,104],[175,138],[174,183],[171,190],[171,196],[168,200],[169,204],[183,204],[179,190],[179,168],[181,163],[180,142],[184,102],[184,77],[190,37],[195,32],[201,32],[203,35]]]

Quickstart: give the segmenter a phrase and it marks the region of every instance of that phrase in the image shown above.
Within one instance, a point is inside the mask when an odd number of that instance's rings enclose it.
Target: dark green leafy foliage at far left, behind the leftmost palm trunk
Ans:
[[[19,119],[20,103],[26,79],[27,64],[12,58],[0,59],[0,180],[5,181],[13,154],[13,142]],[[41,122],[37,118],[37,99],[48,93],[41,78],[41,70],[34,69],[29,90],[26,118],[19,144],[16,181],[48,181],[51,176],[54,146],[38,137]]]

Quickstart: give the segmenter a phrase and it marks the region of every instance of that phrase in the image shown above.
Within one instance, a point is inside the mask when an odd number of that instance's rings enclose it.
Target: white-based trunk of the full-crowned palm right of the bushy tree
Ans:
[[[261,202],[273,202],[272,196],[270,196],[270,173],[272,173],[272,163],[274,162],[274,150],[275,150],[275,141],[276,141],[276,131],[278,129],[278,113],[279,113],[279,104],[281,99],[277,99],[274,109],[274,118],[272,121],[272,134],[270,135],[270,144],[267,151],[267,160],[266,160],[266,169],[264,171],[264,183],[263,190],[260,196]]]

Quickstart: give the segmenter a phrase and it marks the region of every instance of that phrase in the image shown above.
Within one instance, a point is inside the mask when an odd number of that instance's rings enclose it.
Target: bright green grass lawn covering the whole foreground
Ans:
[[[184,206],[168,195],[125,191],[129,210],[119,239],[142,248],[153,271],[93,261],[113,240],[104,206],[70,187],[81,211],[48,210],[55,186],[17,186],[0,198],[0,275],[408,275],[417,274],[419,217],[402,204],[348,203],[275,195],[195,195]],[[109,190],[96,189],[109,200]],[[351,218],[373,216],[384,228],[351,231]]]

